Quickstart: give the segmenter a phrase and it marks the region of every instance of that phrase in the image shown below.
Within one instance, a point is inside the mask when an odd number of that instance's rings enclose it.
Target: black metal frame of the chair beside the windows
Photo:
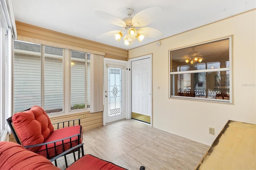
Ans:
[[[27,110],[29,110],[29,109],[27,109]],[[27,111],[26,110],[26,111]],[[12,117],[9,117],[8,119],[6,119],[6,121],[7,121],[7,123],[8,123],[8,125],[9,125],[9,127],[11,128],[11,131],[12,131],[12,133],[13,133],[13,135],[14,135],[14,138],[15,138],[15,140],[16,140],[16,142],[18,143],[18,144],[20,144],[20,145],[22,145],[22,143],[20,142],[20,139],[18,138],[18,135],[16,134],[16,132],[15,132],[15,130],[14,130],[14,127],[12,126]],[[58,123],[53,123],[52,125],[57,125],[57,129],[59,129],[59,128],[65,128],[65,123],[68,123],[68,127],[70,127],[70,126],[74,126],[75,125],[75,121],[78,121],[78,125],[80,125],[80,119],[74,119],[74,120],[70,120],[70,121],[63,121],[63,122],[58,122]],[[61,126],[62,125],[62,126]],[[80,132],[81,132],[81,129],[82,127],[80,127]],[[66,137],[66,138],[61,138],[61,139],[59,139],[59,140],[54,140],[54,141],[51,141],[51,142],[46,142],[46,143],[41,143],[41,144],[35,144],[35,145],[30,145],[30,146],[24,146],[24,148],[32,148],[32,147],[36,147],[36,146],[42,146],[42,145],[45,145],[45,147],[46,147],[46,155],[47,155],[47,158],[50,160],[50,159],[53,159],[52,161],[54,161],[55,162],[55,166],[57,166],[57,161],[56,161],[56,157],[57,157],[57,150],[56,150],[56,142],[59,142],[59,141],[62,141],[62,150],[63,150],[63,152],[62,152],[62,154],[59,154],[59,156],[58,156],[58,158],[60,157],[60,156],[64,156],[64,158],[65,158],[65,164],[66,164],[66,168],[68,167],[68,163],[67,163],[67,158],[66,158],[66,155],[67,154],[70,154],[70,153],[73,153],[73,155],[74,155],[74,160],[76,161],[76,156],[75,156],[75,152],[76,151],[78,151],[78,159],[80,158],[80,149],[81,149],[81,152],[82,152],[82,156],[84,156],[84,148],[83,148],[83,144],[80,144],[80,138],[81,138],[81,135],[83,135],[83,134],[74,134],[74,135],[72,135],[72,136],[68,136],[68,137]],[[71,138],[73,138],[73,137],[75,137],[75,136],[77,136],[78,137],[78,145],[76,145],[76,146],[74,146],[74,147],[72,147],[72,140],[71,140]],[[70,142],[70,149],[68,149],[68,150],[64,150],[64,140],[66,140],[66,139],[69,139],[69,142]],[[53,157],[49,157],[49,153],[48,153],[48,149],[50,149],[50,148],[48,148],[47,147],[47,145],[48,144],[54,144],[54,151],[55,151],[55,156],[53,156]],[[60,145],[58,145],[58,146],[60,146]],[[51,148],[53,148],[53,147],[51,147]],[[44,151],[44,150],[40,150],[40,151]],[[38,151],[39,152],[39,151]]]

